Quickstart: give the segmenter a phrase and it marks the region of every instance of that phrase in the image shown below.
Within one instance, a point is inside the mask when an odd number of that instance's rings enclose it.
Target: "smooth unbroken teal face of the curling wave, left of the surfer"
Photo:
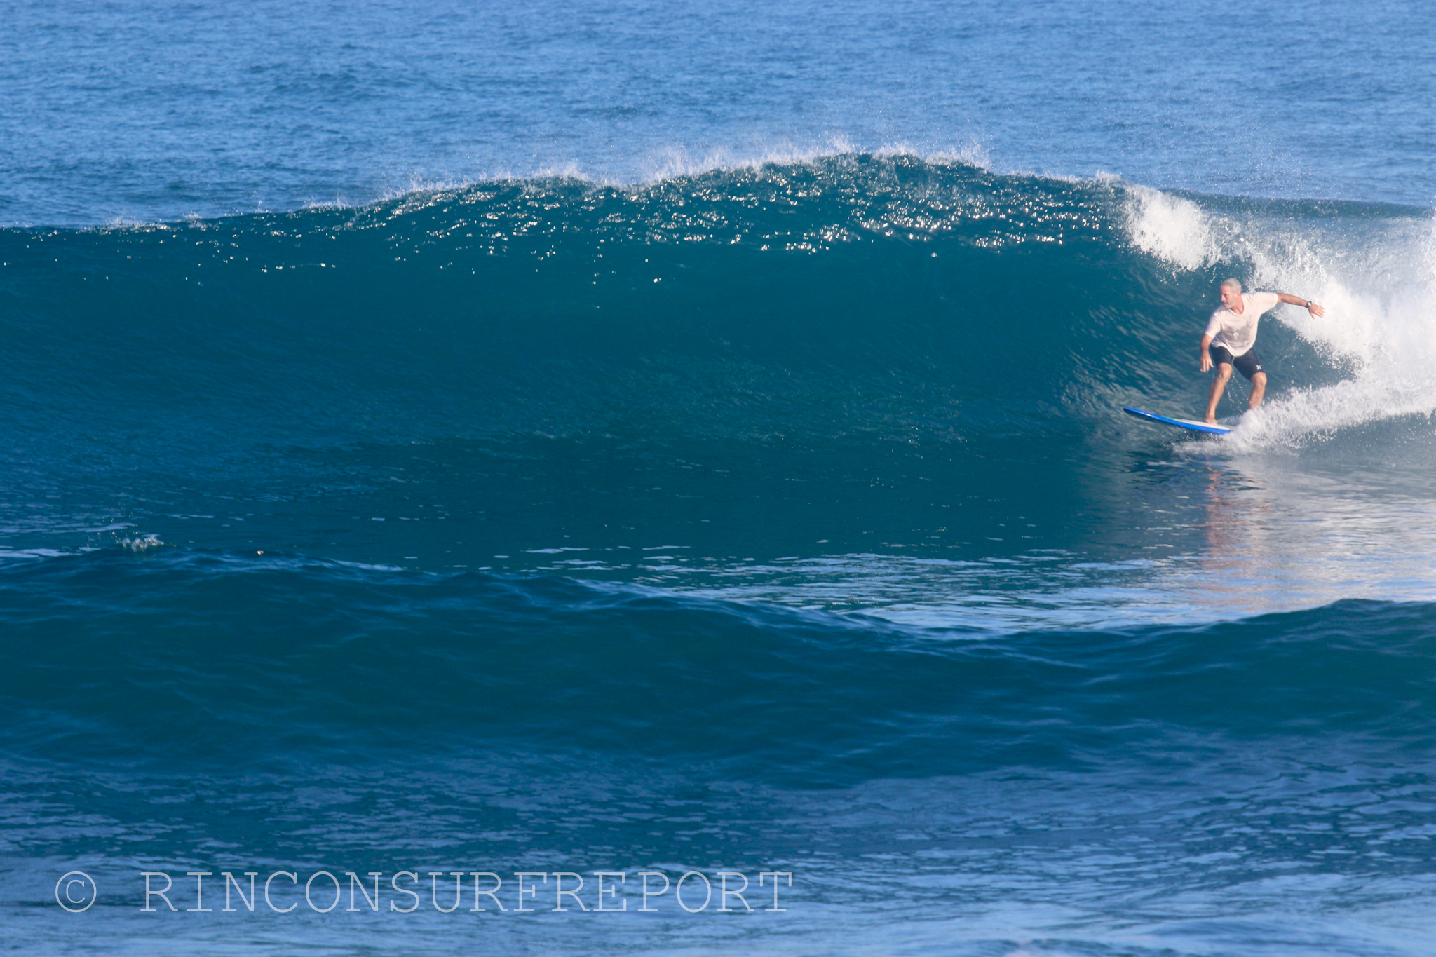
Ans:
[[[30,320],[17,334],[39,347],[65,316],[93,343],[67,352],[62,402],[88,385],[88,412],[108,390],[126,426],[185,397],[335,440],[635,420],[896,436],[959,403],[979,422],[1045,420],[1038,403],[1066,385],[1165,372],[1153,343],[1129,341],[1152,321],[1133,316],[1146,297],[1114,205],[1100,187],[846,156],[633,191],[498,182],[358,211],[10,232],[6,257]],[[1180,301],[1163,298],[1153,308]],[[157,339],[171,350],[149,352]],[[1073,382],[1088,343],[1087,359],[1117,350],[1111,367]]]

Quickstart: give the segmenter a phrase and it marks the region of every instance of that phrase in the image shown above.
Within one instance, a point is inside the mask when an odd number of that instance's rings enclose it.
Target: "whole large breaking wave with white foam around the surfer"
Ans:
[[[7,231],[0,407],[22,494],[3,519],[16,552],[154,537],[645,580],[622,552],[673,547],[679,572],[722,575],[1190,555],[1251,485],[1231,456],[1282,486],[1267,508],[1324,509],[1328,466],[1361,494],[1420,494],[1430,235],[1420,209],[866,155]],[[1226,442],[1120,420],[1202,407],[1193,340],[1228,274],[1330,317],[1264,321],[1271,399]],[[1232,386],[1222,412],[1242,403]],[[1256,551],[1310,554],[1290,535]],[[1403,588],[1367,594],[1427,595]]]

